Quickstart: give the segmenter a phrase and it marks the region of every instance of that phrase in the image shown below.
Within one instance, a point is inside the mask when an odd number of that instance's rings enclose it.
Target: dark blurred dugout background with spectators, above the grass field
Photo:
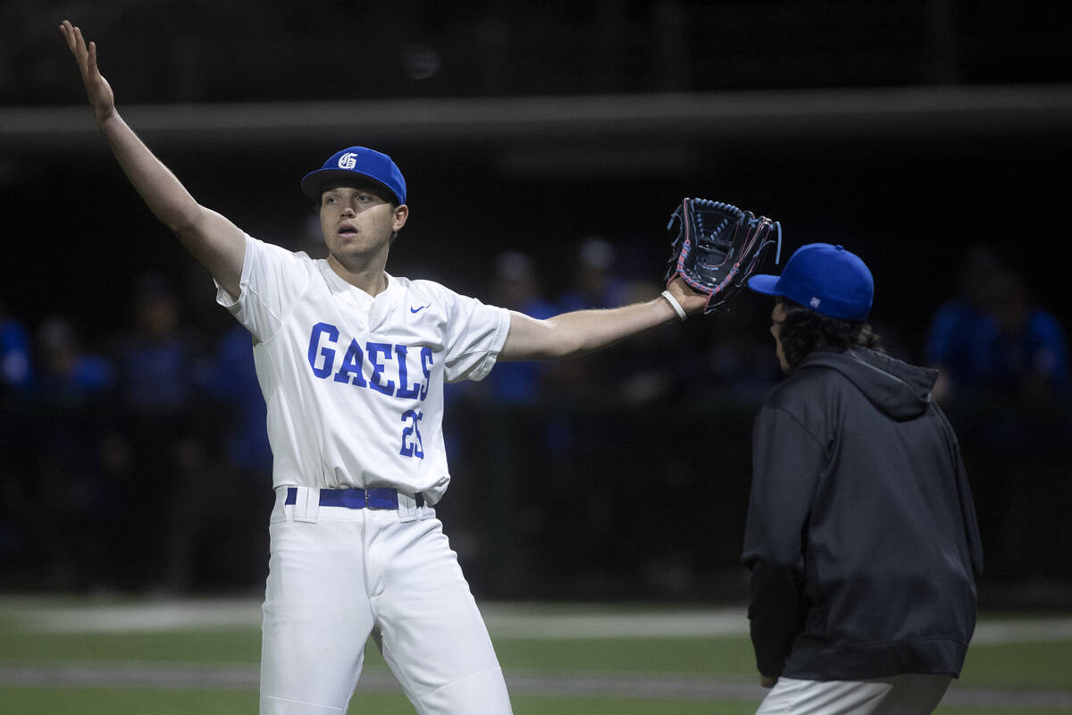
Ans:
[[[1072,5],[1031,0],[5,0],[0,589],[255,593],[267,563],[248,336],[115,164],[65,17],[191,192],[295,250],[300,177],[354,144],[408,183],[390,272],[534,315],[657,293],[686,195],[780,220],[784,255],[844,243],[890,352],[943,369],[984,599],[1067,606]],[[474,591],[743,598],[769,311],[451,386]]]

